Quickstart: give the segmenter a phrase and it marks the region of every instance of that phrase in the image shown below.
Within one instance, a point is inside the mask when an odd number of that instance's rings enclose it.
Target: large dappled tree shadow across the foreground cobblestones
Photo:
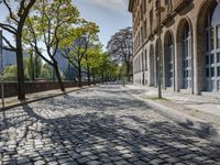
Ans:
[[[152,123],[139,117],[124,116],[123,119],[130,118],[141,128],[135,129],[112,114],[90,112],[85,116],[45,119],[30,106],[24,106],[23,110],[42,124],[38,130],[30,129],[28,125],[28,133],[34,138],[45,138],[47,142],[34,151],[25,151],[28,155],[25,152],[21,154],[32,162],[38,157],[53,157],[79,164],[89,164],[92,160],[101,164],[120,161],[124,164],[201,164],[202,157],[205,164],[217,164],[220,154],[218,145],[167,121]],[[23,140],[26,140],[28,134],[24,135]]]

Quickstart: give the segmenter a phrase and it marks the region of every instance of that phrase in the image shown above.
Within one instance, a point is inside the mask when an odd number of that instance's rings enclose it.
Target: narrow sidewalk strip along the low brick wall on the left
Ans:
[[[79,88],[79,87],[66,88],[65,92],[61,91],[61,89],[54,89],[54,90],[47,90],[47,91],[42,91],[42,92],[28,94],[26,99],[23,101],[18,100],[18,97],[6,98],[4,99],[4,108],[2,108],[2,101],[0,100],[0,111],[3,109],[10,109],[10,108],[21,106],[24,103],[30,103],[30,102],[34,102],[37,100],[43,100],[46,98],[61,96],[64,94],[68,94],[68,92],[85,89],[85,88],[88,88],[88,86],[84,86],[82,88]]]

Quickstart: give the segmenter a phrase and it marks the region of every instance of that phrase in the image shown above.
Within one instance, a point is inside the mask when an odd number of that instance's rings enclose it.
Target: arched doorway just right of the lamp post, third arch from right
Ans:
[[[168,31],[164,40],[165,86],[174,87],[174,40]]]

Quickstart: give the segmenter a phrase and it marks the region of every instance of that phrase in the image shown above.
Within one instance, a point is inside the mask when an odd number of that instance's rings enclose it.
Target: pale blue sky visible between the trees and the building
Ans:
[[[131,14],[128,12],[128,0],[74,0],[81,18],[96,22],[100,26],[99,38],[106,48],[108,41],[120,29],[131,26]],[[8,14],[0,4],[0,21]],[[8,38],[11,38],[6,32]]]

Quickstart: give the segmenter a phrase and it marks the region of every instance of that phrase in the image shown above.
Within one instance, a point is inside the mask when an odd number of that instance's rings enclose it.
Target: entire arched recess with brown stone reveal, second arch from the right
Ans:
[[[176,90],[191,90],[193,92],[193,29],[188,18],[182,19],[176,31]]]

